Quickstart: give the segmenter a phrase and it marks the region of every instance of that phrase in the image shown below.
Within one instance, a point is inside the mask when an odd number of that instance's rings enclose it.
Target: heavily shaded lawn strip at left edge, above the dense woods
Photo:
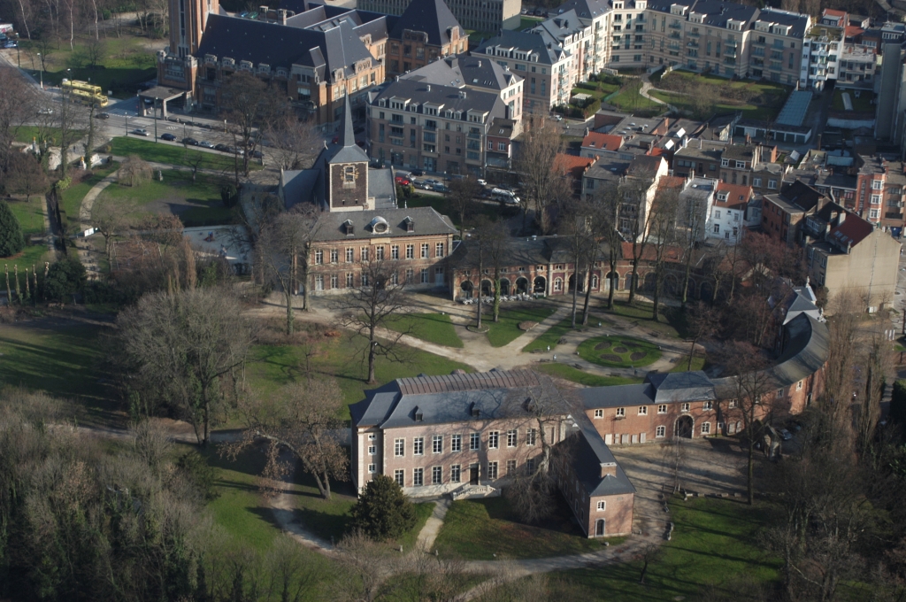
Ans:
[[[39,318],[0,324],[0,384],[46,391],[82,402],[80,422],[101,423],[115,407],[102,384],[99,328]]]

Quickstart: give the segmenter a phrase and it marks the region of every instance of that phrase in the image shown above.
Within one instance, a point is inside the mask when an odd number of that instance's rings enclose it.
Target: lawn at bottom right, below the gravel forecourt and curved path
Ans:
[[[694,498],[670,501],[673,538],[665,541],[651,562],[645,584],[639,583],[641,561],[600,568],[579,568],[555,573],[590,599],[608,592],[608,599],[632,602],[698,600],[733,597],[739,587],[774,587],[779,558],[757,544],[768,526],[763,503],[748,507],[737,500]],[[766,597],[773,599],[769,592]]]

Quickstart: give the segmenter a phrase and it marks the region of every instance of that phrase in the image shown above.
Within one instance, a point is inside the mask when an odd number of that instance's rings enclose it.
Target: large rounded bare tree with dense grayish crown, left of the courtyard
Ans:
[[[178,412],[202,445],[246,361],[241,312],[235,293],[212,287],[150,293],[117,316],[111,360],[130,374],[127,390]]]

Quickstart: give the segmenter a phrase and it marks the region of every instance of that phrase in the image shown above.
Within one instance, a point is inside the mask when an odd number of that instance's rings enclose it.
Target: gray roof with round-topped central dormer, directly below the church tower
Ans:
[[[379,234],[373,231],[372,223],[376,218],[383,218],[387,222],[389,228],[386,232]],[[412,232],[406,230],[406,218],[414,222],[415,229]],[[352,234],[347,234],[347,229],[343,225],[347,221],[352,222]],[[316,240],[362,240],[391,236],[402,241],[406,237],[453,234],[458,231],[448,217],[440,215],[430,207],[322,213],[315,228],[317,228],[314,237]]]

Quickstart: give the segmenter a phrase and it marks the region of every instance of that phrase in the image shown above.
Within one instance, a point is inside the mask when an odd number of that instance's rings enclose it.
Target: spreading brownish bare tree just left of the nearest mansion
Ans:
[[[314,478],[325,500],[331,499],[331,479],[345,481],[349,461],[333,430],[342,429],[343,402],[340,387],[333,380],[309,378],[285,384],[275,393],[250,395],[239,404],[246,422],[243,438],[232,445],[230,455],[263,438],[288,450]],[[275,453],[268,454],[265,472],[275,472]]]

